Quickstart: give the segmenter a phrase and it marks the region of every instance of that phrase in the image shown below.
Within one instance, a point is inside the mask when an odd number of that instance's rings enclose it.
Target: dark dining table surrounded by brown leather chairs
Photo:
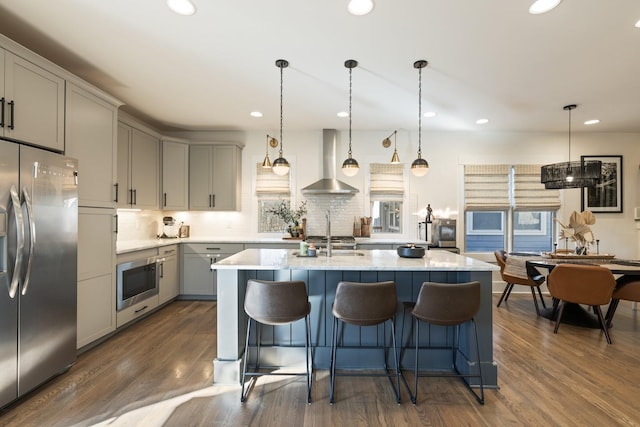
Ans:
[[[540,256],[528,257],[526,260],[528,271],[531,271],[531,268],[533,268],[538,271],[540,269],[545,269],[548,272],[551,272],[551,270],[559,264],[598,265],[600,267],[605,267],[608,268],[614,276],[616,276],[617,281],[621,280],[624,276],[640,276],[640,260],[623,260],[609,257],[597,258],[596,256],[584,258],[548,258]],[[540,310],[540,315],[547,319],[555,320],[557,312],[554,307]],[[600,328],[600,322],[595,314],[590,313],[580,304],[573,303],[567,303],[565,305],[562,323],[593,329]]]

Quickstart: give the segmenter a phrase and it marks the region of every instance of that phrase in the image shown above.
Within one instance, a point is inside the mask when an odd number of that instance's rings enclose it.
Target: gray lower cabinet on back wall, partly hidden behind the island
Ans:
[[[242,243],[188,243],[182,251],[180,298],[215,300],[215,264],[244,250]]]

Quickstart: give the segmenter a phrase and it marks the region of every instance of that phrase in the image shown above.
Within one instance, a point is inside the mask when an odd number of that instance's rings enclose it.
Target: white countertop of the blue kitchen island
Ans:
[[[356,252],[361,255],[354,255]],[[427,251],[423,258],[401,258],[395,250],[333,251],[332,257],[299,257],[295,249],[246,249],[216,263],[229,270],[387,270],[493,271],[496,265],[448,251]]]

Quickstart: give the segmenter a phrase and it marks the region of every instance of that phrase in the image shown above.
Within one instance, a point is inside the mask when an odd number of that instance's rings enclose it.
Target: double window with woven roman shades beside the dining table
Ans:
[[[465,251],[550,251],[559,208],[538,165],[466,165]]]

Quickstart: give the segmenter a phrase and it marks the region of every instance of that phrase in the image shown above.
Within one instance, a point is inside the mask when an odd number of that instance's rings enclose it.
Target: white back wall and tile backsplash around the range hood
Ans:
[[[252,132],[199,132],[179,133],[172,136],[197,141],[242,142],[242,211],[241,212],[195,212],[172,213],[191,225],[192,236],[243,237],[257,234],[257,199],[255,197],[255,163],[264,158],[266,134],[277,135],[274,130]],[[317,211],[327,205],[343,215],[334,215],[333,234],[349,234],[353,216],[369,216],[369,200],[366,196],[368,164],[388,162],[393,154],[390,148],[382,146],[382,140],[391,133],[385,131],[352,131],[353,157],[360,163],[360,172],[355,177],[346,177],[340,165],[347,156],[348,133],[338,132],[337,178],[360,189],[360,194],[345,204],[330,196],[325,203],[309,198],[312,210],[308,227],[314,234],[324,232],[323,215]],[[292,164],[292,186],[294,203],[305,197],[299,190],[321,177],[322,170],[322,130],[284,131],[284,157]],[[596,214],[593,227],[600,239],[600,251],[614,253],[619,258],[638,257],[638,234],[633,219],[633,208],[640,206],[640,150],[635,148],[640,134],[631,133],[580,133],[572,132],[571,157],[579,160],[580,155],[622,155],[623,156],[623,213]],[[397,137],[400,160],[408,170],[417,153],[417,132],[400,130]],[[449,208],[461,210],[462,165],[465,163],[554,163],[566,161],[568,156],[568,136],[566,132],[426,132],[422,133],[423,158],[430,164],[429,173],[422,178],[406,174],[408,185],[405,202],[404,233],[393,236],[398,240],[415,240],[418,217],[411,215],[427,203],[434,210]],[[273,161],[277,149],[269,149]],[[559,219],[568,219],[572,211],[580,210],[580,190],[563,190],[562,209]],[[344,196],[341,196],[344,197]],[[315,206],[314,206],[315,205]],[[338,218],[340,218],[338,220]],[[319,220],[320,219],[320,220]],[[336,222],[338,221],[338,222]],[[318,222],[322,222],[318,224]],[[278,234],[261,234],[262,237],[277,237]],[[374,236],[375,237],[375,236]],[[391,236],[384,236],[391,237]]]

